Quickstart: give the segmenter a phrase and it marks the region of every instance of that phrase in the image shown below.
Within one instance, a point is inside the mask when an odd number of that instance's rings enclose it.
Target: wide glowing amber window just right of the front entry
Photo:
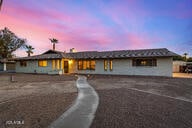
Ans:
[[[79,60],[78,70],[95,70],[95,60]]]

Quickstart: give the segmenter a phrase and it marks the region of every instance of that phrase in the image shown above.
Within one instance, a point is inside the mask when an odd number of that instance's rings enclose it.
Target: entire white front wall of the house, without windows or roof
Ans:
[[[112,74],[112,75],[147,75],[147,76],[172,76],[172,58],[157,58],[157,66],[132,66],[132,59],[113,59],[113,70],[104,71],[104,60],[96,60],[95,70],[77,70],[77,60],[62,59],[60,69],[52,69],[52,60],[47,61],[47,67],[39,67],[38,61],[27,61],[26,67],[21,67],[16,62],[16,72],[22,73],[49,73],[57,74],[62,71],[64,61],[69,62],[69,73],[80,74]],[[108,65],[109,67],[109,65]],[[57,70],[57,71],[56,71]]]

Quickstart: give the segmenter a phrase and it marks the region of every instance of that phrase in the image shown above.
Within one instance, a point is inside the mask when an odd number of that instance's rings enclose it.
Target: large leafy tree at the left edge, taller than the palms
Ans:
[[[25,46],[26,40],[17,37],[8,28],[0,30],[0,57],[11,58],[14,51]]]

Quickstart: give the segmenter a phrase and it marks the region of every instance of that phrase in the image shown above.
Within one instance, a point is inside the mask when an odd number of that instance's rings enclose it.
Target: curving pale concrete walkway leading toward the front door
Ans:
[[[78,97],[75,103],[48,128],[90,127],[99,104],[99,97],[84,76],[78,76],[77,88]]]

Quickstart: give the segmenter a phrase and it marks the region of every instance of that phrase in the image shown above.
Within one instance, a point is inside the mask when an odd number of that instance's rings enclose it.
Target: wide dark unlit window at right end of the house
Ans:
[[[133,66],[157,66],[156,59],[133,59]]]

